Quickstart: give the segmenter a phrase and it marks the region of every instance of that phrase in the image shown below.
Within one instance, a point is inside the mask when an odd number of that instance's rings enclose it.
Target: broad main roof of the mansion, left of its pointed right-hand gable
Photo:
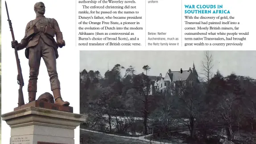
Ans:
[[[172,71],[171,74],[169,74],[169,77],[171,78],[172,82],[176,81],[185,81],[190,75],[189,70],[183,70],[182,73],[180,71]]]

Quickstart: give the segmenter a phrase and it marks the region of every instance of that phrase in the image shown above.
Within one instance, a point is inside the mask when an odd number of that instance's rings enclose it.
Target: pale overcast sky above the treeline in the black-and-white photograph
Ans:
[[[163,75],[172,71],[188,70],[193,62],[198,74],[202,73],[205,51],[80,51],[80,71],[99,70],[104,76],[115,64],[135,66],[136,74],[143,72],[142,67],[151,67],[148,75]],[[256,51],[209,51],[213,58],[212,72],[218,69],[227,76],[234,72],[238,75],[256,78]]]

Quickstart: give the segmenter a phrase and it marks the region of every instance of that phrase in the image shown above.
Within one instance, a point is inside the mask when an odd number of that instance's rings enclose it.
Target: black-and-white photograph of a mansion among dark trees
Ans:
[[[80,144],[256,144],[256,51],[80,51]]]

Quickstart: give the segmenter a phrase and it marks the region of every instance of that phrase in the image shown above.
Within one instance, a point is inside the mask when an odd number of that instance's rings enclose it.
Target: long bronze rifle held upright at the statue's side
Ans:
[[[8,12],[6,1],[5,1],[5,8],[6,8],[7,16],[8,16],[7,21],[9,22],[10,31],[12,33],[12,41],[15,41],[14,33],[13,33],[13,29],[12,29],[12,22],[9,18],[9,12]],[[23,76],[22,76],[22,73],[21,73],[21,62],[20,62],[20,59],[19,59],[17,47],[15,47],[14,49],[15,49],[15,58],[16,58],[17,69],[18,69],[17,83],[18,83],[18,85],[20,85],[20,87],[19,87],[18,107],[21,107],[22,105],[25,104],[24,103],[24,97],[23,97],[23,91],[22,91],[22,87],[24,86],[24,80],[23,80]]]

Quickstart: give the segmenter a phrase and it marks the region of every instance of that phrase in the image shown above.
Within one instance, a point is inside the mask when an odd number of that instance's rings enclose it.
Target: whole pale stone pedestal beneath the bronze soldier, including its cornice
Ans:
[[[70,107],[49,104],[35,101],[2,115],[11,127],[10,144],[74,144],[74,129],[86,116],[74,114]]]

